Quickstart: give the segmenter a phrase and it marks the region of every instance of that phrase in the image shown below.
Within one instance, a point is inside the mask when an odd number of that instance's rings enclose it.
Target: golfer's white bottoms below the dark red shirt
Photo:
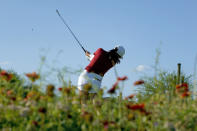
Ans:
[[[90,83],[92,84],[92,88],[89,91],[89,93],[96,93],[99,91],[101,87],[101,81],[102,81],[102,76],[96,74],[96,73],[91,73],[88,72],[87,70],[84,70],[78,79],[78,89],[83,90],[83,86]]]

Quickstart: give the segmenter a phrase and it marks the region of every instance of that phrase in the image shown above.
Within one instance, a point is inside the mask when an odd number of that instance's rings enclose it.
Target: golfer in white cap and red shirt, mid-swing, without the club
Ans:
[[[84,86],[91,84],[91,89],[88,93],[97,93],[101,87],[101,82],[105,73],[115,64],[120,63],[120,59],[123,58],[124,54],[125,49],[122,46],[116,46],[110,51],[99,48],[94,54],[86,51],[86,56],[90,63],[79,76],[79,91],[83,92]]]

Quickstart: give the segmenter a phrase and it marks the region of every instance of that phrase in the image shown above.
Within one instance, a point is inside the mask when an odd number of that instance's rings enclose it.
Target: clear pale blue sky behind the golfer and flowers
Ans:
[[[123,45],[126,54],[117,66],[127,75],[125,95],[131,93],[140,73],[138,65],[152,66],[155,49],[161,45],[160,66],[176,70],[181,62],[186,74],[193,74],[197,53],[197,2],[195,0],[1,0],[0,66],[19,73],[36,71],[41,49],[48,50],[56,66],[84,68],[88,61],[76,41],[60,21],[62,16],[84,47],[112,49]],[[151,74],[153,70],[146,71]],[[73,83],[77,76],[69,76]],[[103,79],[103,86],[115,82],[113,69]]]

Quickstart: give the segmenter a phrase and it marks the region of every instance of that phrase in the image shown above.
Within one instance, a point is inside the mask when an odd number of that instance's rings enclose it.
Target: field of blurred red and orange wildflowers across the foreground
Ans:
[[[42,76],[25,78],[0,70],[0,129],[4,131],[194,131],[197,130],[197,100],[192,96],[190,77],[161,71],[134,82],[139,91],[122,96],[118,77],[103,98],[79,94],[70,82],[60,87],[47,84]],[[177,82],[180,79],[180,82]],[[55,93],[58,90],[58,94]],[[86,85],[86,91],[91,85]],[[85,91],[85,92],[86,92]]]

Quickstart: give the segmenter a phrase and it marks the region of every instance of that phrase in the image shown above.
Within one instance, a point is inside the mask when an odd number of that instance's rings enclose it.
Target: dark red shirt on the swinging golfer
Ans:
[[[85,69],[88,72],[104,75],[111,67],[113,67],[113,65],[109,59],[108,52],[99,48],[94,52],[94,58]]]

